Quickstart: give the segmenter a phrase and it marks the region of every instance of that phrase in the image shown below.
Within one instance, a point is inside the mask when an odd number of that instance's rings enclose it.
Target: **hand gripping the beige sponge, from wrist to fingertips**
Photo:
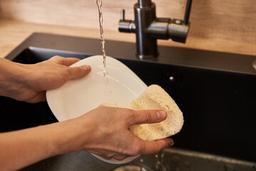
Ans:
[[[103,158],[123,160],[129,156],[158,153],[173,145],[173,140],[165,138],[157,141],[144,141],[129,130],[130,125],[158,123],[165,120],[162,110],[130,110],[125,108],[100,107],[86,115],[68,122],[76,123],[79,129],[73,129],[76,137],[66,142],[64,147],[70,150],[85,150]],[[73,124],[71,123],[71,124]],[[74,131],[77,130],[77,131]]]

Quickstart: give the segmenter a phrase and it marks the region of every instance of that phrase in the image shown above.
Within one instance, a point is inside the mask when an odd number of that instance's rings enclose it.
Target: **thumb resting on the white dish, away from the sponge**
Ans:
[[[68,69],[70,71],[70,79],[83,78],[91,72],[91,66],[75,66]]]

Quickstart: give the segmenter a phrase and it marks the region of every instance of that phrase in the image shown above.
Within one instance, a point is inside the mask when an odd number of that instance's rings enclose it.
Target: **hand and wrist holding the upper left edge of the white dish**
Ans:
[[[82,78],[91,71],[90,66],[68,67],[78,58],[54,56],[36,64],[0,61],[0,95],[16,100],[37,103],[46,100],[46,90],[62,86],[69,79]]]

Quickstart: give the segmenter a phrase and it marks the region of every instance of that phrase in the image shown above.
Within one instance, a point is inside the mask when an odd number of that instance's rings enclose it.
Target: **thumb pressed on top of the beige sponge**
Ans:
[[[138,125],[143,123],[160,123],[167,118],[164,110],[134,110],[130,125]],[[129,125],[129,126],[130,126]]]

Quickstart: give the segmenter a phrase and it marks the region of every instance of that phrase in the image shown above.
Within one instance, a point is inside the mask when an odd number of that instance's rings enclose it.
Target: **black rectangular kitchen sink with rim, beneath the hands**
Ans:
[[[148,86],[163,87],[179,105],[184,126],[165,150],[168,170],[256,170],[256,56],[188,48],[159,47],[153,60],[135,58],[135,45],[106,41],[108,56],[118,58]],[[6,58],[37,63],[51,56],[86,58],[101,54],[96,39],[34,33]],[[47,103],[29,104],[0,97],[0,131],[57,122]],[[173,159],[175,158],[175,159]],[[178,158],[178,159],[177,159]],[[155,157],[132,162],[155,170]],[[187,164],[184,164],[187,163]],[[87,152],[43,160],[24,170],[113,170]]]

